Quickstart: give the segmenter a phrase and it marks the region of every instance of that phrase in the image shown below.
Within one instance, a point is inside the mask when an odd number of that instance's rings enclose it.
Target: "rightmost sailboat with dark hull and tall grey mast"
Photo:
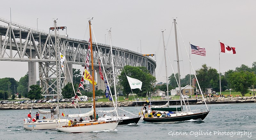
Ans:
[[[155,123],[168,123],[168,122],[179,122],[179,121],[188,121],[188,120],[204,120],[204,118],[208,115],[210,110],[208,109],[206,103],[206,108],[201,110],[194,110],[194,111],[183,111],[182,108],[182,90],[180,87],[180,64],[179,64],[179,54],[178,54],[178,43],[177,43],[177,31],[176,31],[176,19],[173,19],[174,22],[174,30],[175,30],[175,43],[176,43],[176,54],[177,54],[177,65],[178,65],[178,80],[179,80],[179,89],[180,89],[180,105],[181,105],[181,111],[176,113],[161,113],[156,108],[156,116],[153,114],[145,115],[143,118],[144,121],[147,122],[155,122]],[[163,31],[162,31],[163,32]],[[164,32],[163,32],[164,34]],[[164,46],[165,51],[165,46]],[[164,56],[165,57],[165,56]],[[166,68],[166,59],[165,59],[165,71],[166,71],[166,80],[167,79],[167,68]],[[196,77],[196,74],[195,74]],[[197,80],[197,78],[196,78]],[[199,85],[198,81],[197,84]],[[167,86],[168,87],[168,86]],[[202,94],[202,92],[201,92]],[[203,94],[202,94],[203,96]],[[204,96],[203,96],[204,97]],[[153,111],[153,110],[152,110]]]

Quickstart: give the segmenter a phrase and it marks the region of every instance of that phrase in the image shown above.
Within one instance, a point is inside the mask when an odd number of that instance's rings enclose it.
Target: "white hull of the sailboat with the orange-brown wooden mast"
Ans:
[[[92,123],[92,122],[88,122],[88,123]],[[93,122],[93,123],[95,123],[95,122]],[[103,131],[103,130],[115,130],[118,123],[119,122],[116,121],[116,122],[106,122],[106,123],[101,123],[101,124],[84,125],[84,126],[76,126],[76,127],[56,127],[56,129],[61,132],[67,132],[67,133],[82,133],[82,132],[93,132],[93,131]],[[82,124],[82,123],[77,123],[77,124]]]

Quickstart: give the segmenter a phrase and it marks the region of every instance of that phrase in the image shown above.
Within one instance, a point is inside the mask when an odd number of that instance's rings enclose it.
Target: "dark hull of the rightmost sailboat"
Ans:
[[[163,122],[179,122],[179,121],[188,121],[188,120],[204,120],[209,112],[202,113],[193,113],[188,115],[174,116],[174,117],[153,117],[153,118],[143,118],[147,122],[163,123]]]

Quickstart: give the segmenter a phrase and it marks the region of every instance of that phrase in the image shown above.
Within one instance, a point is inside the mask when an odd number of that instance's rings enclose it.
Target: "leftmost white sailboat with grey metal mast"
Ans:
[[[56,20],[54,20],[54,30],[55,30],[55,57],[56,57],[56,76],[57,76],[57,85],[59,85],[59,77],[58,76],[60,74],[60,50],[59,50],[59,45],[57,45],[57,33],[56,33]],[[68,123],[67,119],[62,119],[60,118],[60,111],[59,111],[59,93],[60,93],[60,86],[58,86],[57,88],[57,99],[58,99],[58,104],[56,109],[54,110],[54,115],[58,115],[58,118],[46,118],[46,119],[38,119],[35,122],[30,121],[28,119],[24,119],[24,124],[23,127],[27,130],[44,130],[44,129],[55,129],[55,127],[57,126],[63,126],[66,125],[66,123]],[[30,110],[31,112],[31,110]],[[44,110],[40,110],[38,109],[39,114],[51,114],[50,111],[44,111]]]

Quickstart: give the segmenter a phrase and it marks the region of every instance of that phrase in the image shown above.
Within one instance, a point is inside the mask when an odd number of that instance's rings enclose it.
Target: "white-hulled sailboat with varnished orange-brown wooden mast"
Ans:
[[[87,122],[78,122],[71,126],[56,127],[57,130],[61,132],[69,133],[82,133],[82,132],[93,132],[93,131],[103,131],[103,130],[115,130],[119,121],[97,121],[96,120],[96,110],[95,110],[95,85],[94,85],[94,69],[93,69],[93,52],[92,52],[92,32],[91,32],[91,20],[89,20],[90,28],[90,44],[91,45],[91,59],[92,59],[92,92],[93,92],[93,115],[94,120]]]

